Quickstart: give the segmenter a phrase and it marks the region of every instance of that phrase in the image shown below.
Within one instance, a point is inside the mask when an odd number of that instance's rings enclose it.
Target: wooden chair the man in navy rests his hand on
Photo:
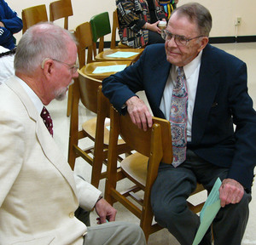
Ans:
[[[137,125],[131,122],[128,113],[125,116],[120,116],[112,107],[110,111],[110,139],[108,148],[108,168],[105,198],[110,203],[120,202],[125,208],[128,208],[132,214],[135,214],[140,219],[140,225],[144,231],[146,239],[149,234],[159,231],[160,225],[152,224],[154,214],[150,205],[150,191],[154,180],[158,174],[160,162],[172,164],[172,135],[170,122],[157,117],[153,118],[154,125],[148,131],[143,131],[137,128]],[[120,173],[117,174],[117,140],[121,135],[125,143],[132,150],[137,151],[129,157],[126,157],[120,162]],[[121,175],[121,176],[120,176]],[[129,179],[132,183],[122,192],[117,188],[118,179]],[[129,185],[129,184],[128,184]],[[203,191],[202,185],[198,185],[195,192]],[[143,198],[138,196],[137,192]],[[129,198],[128,198],[129,197]],[[136,202],[131,202],[131,199]],[[142,206],[138,208],[138,205]],[[203,206],[200,203],[198,206],[189,204],[189,207],[198,213]]]

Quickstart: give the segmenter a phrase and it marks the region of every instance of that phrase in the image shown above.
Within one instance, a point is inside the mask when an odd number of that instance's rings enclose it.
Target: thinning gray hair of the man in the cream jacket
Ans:
[[[75,42],[69,31],[50,22],[30,27],[20,38],[15,54],[15,71],[32,74],[45,58],[67,59],[67,44]]]

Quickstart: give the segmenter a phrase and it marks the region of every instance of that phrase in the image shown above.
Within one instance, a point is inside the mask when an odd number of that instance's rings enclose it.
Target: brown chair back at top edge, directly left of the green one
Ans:
[[[71,0],[59,0],[49,3],[49,21],[64,18],[64,28],[68,30],[68,17],[73,15]]]

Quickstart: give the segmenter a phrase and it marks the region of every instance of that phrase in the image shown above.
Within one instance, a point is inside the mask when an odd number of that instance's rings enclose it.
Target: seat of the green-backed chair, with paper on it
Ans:
[[[144,48],[114,48],[114,49],[106,49],[100,54],[97,54],[95,57],[96,61],[103,60],[137,60],[141,54],[143,54]],[[129,57],[129,58],[114,58],[108,57],[109,54],[114,54],[116,52],[137,52],[137,54]]]

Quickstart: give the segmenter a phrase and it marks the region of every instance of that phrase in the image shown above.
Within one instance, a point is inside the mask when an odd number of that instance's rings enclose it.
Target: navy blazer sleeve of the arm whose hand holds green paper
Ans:
[[[228,178],[236,179],[247,190],[251,189],[256,159],[256,112],[253,100],[247,93],[247,66],[241,63],[234,72],[230,88],[229,104],[236,125],[235,155]]]

